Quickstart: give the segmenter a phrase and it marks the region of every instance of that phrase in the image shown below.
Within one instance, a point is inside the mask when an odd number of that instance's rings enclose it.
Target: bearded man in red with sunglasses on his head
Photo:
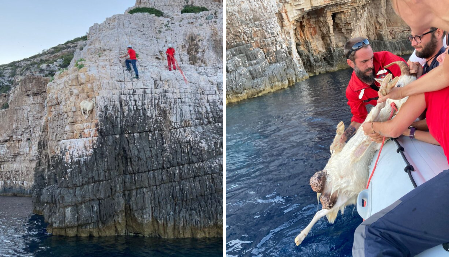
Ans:
[[[379,98],[377,91],[379,91],[380,84],[374,78],[382,79],[389,73],[393,75],[393,78],[401,75],[401,70],[397,65],[392,65],[388,69],[384,69],[383,66],[395,61],[405,62],[404,59],[391,52],[373,52],[370,42],[363,37],[349,39],[344,44],[343,50],[348,65],[354,71],[346,88],[346,98],[348,98],[348,105],[351,107],[352,113],[351,124],[344,131],[340,143],[344,143],[352,137],[361,123],[365,121],[368,115],[365,106],[377,105],[376,100]],[[379,134],[371,136],[377,136],[376,142],[382,142],[383,136]]]

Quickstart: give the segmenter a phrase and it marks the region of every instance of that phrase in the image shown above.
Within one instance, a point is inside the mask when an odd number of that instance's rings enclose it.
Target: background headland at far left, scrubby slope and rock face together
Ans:
[[[47,99],[47,83],[66,68],[80,37],[21,61],[0,65],[0,195],[31,196]]]

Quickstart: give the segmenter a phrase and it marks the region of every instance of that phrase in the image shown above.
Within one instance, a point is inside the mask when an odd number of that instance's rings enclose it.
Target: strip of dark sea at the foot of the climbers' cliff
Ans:
[[[0,196],[0,257],[222,257],[223,239],[64,237],[45,230],[31,198]]]

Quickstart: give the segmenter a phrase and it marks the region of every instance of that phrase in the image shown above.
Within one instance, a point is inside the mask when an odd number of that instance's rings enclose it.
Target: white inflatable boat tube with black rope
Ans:
[[[378,153],[379,151],[371,162],[370,172]],[[405,136],[389,140],[383,146],[370,186],[358,196],[357,212],[367,219],[410,192],[414,189],[414,184],[419,186],[447,169],[448,161],[440,146]],[[365,207],[362,199],[366,201]],[[449,252],[443,245],[438,245],[417,257],[449,257]]]

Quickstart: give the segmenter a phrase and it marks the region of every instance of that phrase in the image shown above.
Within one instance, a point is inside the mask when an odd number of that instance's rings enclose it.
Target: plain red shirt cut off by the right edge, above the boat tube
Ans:
[[[449,163],[449,87],[424,93],[430,134],[440,143]]]

